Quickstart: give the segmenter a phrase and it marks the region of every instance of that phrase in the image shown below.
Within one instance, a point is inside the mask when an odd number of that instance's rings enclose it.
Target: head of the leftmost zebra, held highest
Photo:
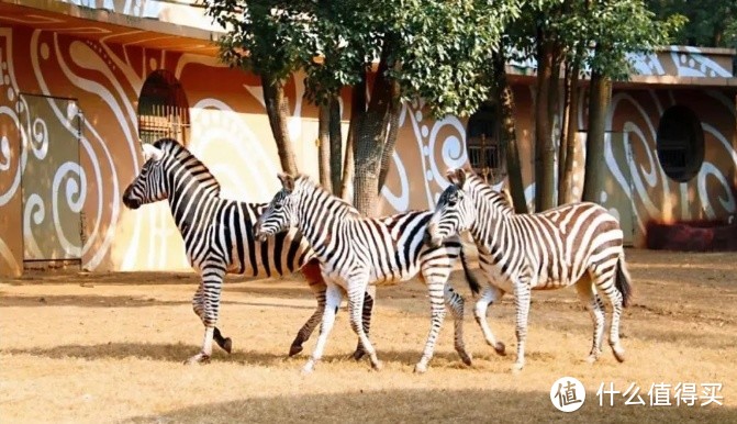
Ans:
[[[146,163],[141,174],[123,192],[123,204],[138,209],[142,204],[157,202],[168,197],[164,172],[164,150],[150,144],[143,145]]]

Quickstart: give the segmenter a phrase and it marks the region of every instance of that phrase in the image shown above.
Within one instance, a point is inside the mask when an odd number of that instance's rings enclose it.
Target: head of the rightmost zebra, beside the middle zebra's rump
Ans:
[[[476,220],[476,210],[471,197],[464,191],[466,170],[449,169],[448,186],[435,205],[435,213],[427,224],[425,243],[438,247],[450,236],[469,230]]]

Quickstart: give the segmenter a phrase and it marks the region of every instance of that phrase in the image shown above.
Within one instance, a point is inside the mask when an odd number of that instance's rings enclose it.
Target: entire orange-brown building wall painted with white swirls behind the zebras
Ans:
[[[167,203],[129,211],[121,202],[122,191],[142,165],[138,93],[152,71],[174,72],[190,105],[188,147],[220,179],[223,196],[267,201],[278,188],[279,161],[259,81],[212,57],[144,49],[135,40],[121,45],[105,36],[90,41],[70,35],[79,33],[83,29],[54,33],[21,25],[0,27],[0,275],[21,272],[24,230],[36,221],[54,220],[59,208],[76,209],[83,216],[83,245],[78,248],[86,269],[189,269]],[[42,197],[43,208],[25,215],[22,176],[29,155],[43,161],[43,152],[58,132],[74,131],[75,116],[57,110],[48,118],[54,125],[29,122],[21,92],[76,99],[85,116],[81,167],[56,169],[59,191]],[[317,113],[302,101],[303,92],[302,77],[293,77],[288,85],[292,99],[289,126],[298,165],[316,175]],[[515,94],[526,194],[532,200],[533,93],[528,85],[518,83]],[[632,174],[635,186],[627,192],[639,225],[655,219],[718,217],[735,211],[728,190],[735,183],[737,164],[732,96],[718,90],[615,91],[608,129],[627,132],[635,160],[611,161],[610,169],[615,176]],[[660,113],[681,101],[695,104],[708,149],[704,167],[685,188],[665,177],[654,150]],[[343,104],[350,104],[347,91]],[[347,108],[343,116],[349,116]],[[432,208],[447,185],[445,169],[467,163],[464,120],[436,121],[422,103],[410,103],[402,109],[400,123],[393,167],[382,190],[384,213]],[[52,132],[51,127],[65,130]],[[62,227],[56,225],[56,231],[64,231]]]

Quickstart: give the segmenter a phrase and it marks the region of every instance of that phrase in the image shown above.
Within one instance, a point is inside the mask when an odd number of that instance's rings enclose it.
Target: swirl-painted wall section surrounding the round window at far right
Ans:
[[[697,105],[694,112],[704,137],[704,160],[695,176],[684,182],[666,175],[656,142],[660,116],[679,104]],[[606,144],[605,160],[634,205],[636,233],[644,234],[649,222],[717,219],[726,222],[735,213],[736,119],[734,98],[718,90],[614,92],[607,126],[626,135],[622,147],[630,149],[632,160],[617,161],[614,157],[617,147],[611,142]]]

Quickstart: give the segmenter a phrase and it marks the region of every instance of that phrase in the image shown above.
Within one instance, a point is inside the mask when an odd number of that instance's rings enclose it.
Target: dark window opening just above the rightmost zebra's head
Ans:
[[[485,102],[468,120],[466,149],[473,171],[487,182],[496,183],[506,176],[504,152],[499,143],[496,108]]]

